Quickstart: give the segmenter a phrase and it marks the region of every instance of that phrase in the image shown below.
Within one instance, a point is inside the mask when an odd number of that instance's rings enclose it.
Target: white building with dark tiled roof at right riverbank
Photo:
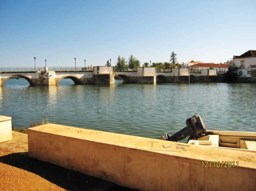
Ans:
[[[256,77],[256,50],[249,50],[240,56],[233,56],[233,67],[238,67],[240,77]]]

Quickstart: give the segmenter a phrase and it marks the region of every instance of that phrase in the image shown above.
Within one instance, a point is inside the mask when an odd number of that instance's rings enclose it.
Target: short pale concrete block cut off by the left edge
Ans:
[[[12,140],[12,118],[0,115],[0,142]]]

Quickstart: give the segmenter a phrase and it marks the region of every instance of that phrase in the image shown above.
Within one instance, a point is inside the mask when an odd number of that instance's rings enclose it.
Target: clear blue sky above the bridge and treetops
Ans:
[[[223,62],[256,49],[256,1],[0,0],[0,67]],[[113,65],[113,64],[112,64]]]

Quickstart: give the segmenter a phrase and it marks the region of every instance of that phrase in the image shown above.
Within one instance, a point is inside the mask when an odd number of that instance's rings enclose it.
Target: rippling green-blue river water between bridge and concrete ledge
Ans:
[[[256,84],[161,83],[29,86],[25,79],[9,79],[0,87],[0,115],[11,116],[14,128],[49,122],[160,138],[186,126],[199,114],[207,129],[256,130]]]

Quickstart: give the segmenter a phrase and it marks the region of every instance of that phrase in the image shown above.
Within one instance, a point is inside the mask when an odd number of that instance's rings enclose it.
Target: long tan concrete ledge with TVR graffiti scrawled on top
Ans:
[[[45,124],[28,129],[29,156],[140,190],[255,190],[256,155]],[[202,161],[238,161],[202,168]]]

